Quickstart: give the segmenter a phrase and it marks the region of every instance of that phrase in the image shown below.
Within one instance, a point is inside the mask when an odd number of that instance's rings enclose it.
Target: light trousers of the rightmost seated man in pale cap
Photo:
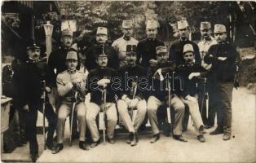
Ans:
[[[194,128],[196,130],[196,134],[200,134],[198,129],[200,126],[204,126],[204,124],[199,111],[199,105],[198,105],[197,99],[195,98],[196,101],[184,99],[183,97],[181,97],[180,99],[183,101],[184,104],[188,104],[189,114],[191,115]]]

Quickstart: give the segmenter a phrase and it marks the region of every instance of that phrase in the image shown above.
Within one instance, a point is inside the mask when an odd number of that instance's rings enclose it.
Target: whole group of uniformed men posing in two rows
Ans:
[[[119,121],[129,131],[126,143],[135,146],[145,118],[152,128],[150,143],[160,139],[161,123],[167,124],[163,129],[167,136],[171,133],[175,140],[187,142],[182,133],[187,130],[189,115],[196,138],[203,143],[205,129],[214,126],[216,112],[218,126],[210,134],[223,134],[223,140],[231,139],[232,89],[239,54],[227,41],[223,24],[214,25],[213,37],[210,23],[201,22],[202,39],[198,44],[189,40],[187,20],[177,24],[179,40],[170,46],[170,52],[164,42],[157,40],[155,20],[148,20],[147,38],[141,41],[132,37],[132,21],[123,20],[123,36],[112,46],[107,44],[108,29],[98,27],[96,42],[85,54],[73,44],[73,32],[64,29],[62,45],[51,53],[47,64],[40,60],[41,48],[36,41],[28,42],[28,59],[15,68],[13,78],[17,103],[25,115],[32,160],[38,158],[36,124],[42,105],[49,122],[46,147],[52,149],[53,154],[64,148],[65,120],[73,114],[73,109],[76,113],[70,122],[73,124],[70,132],[79,139],[79,148],[83,150],[100,143],[97,122],[101,112],[106,116],[107,139],[112,144]],[[42,98],[43,92],[49,98]],[[164,116],[159,116],[159,111]],[[53,147],[55,130],[57,144]],[[86,143],[88,131],[92,139],[90,146]]]

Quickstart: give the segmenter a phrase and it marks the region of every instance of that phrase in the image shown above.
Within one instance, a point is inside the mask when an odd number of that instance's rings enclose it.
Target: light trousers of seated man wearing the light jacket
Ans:
[[[57,122],[57,143],[63,143],[64,129],[66,117],[71,113],[73,104],[61,104],[58,113]],[[84,103],[77,104],[75,110],[77,112],[79,141],[85,141],[86,134],[86,105]],[[72,132],[72,131],[70,131]]]

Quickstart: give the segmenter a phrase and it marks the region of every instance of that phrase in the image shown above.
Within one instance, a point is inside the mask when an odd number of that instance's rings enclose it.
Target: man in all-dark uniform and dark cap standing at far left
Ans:
[[[33,39],[27,42],[28,59],[24,64],[19,66],[14,74],[15,81],[19,81],[17,85],[20,106],[25,110],[25,127],[26,134],[29,139],[29,151],[32,161],[38,158],[38,140],[37,140],[37,120],[38,110],[42,112],[42,92],[50,92],[48,82],[48,73],[46,63],[40,61],[40,47]],[[43,82],[46,81],[46,87],[43,88]],[[44,97],[46,98],[46,97]],[[57,117],[55,112],[48,103],[46,98],[45,117],[49,122],[48,134],[46,138],[46,147],[52,148],[53,134]]]

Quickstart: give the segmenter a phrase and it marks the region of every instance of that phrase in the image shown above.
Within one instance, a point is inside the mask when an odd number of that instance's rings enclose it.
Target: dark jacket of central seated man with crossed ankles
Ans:
[[[133,99],[133,96],[135,94],[135,98],[138,98],[139,100],[144,99],[144,95],[147,93],[146,90],[140,89],[143,88],[142,83],[142,77],[144,77],[144,80],[148,80],[147,75],[144,71],[144,69],[139,66],[135,65],[134,67],[131,67],[129,65],[122,66],[121,68],[118,68],[117,71],[117,77],[121,77],[121,90],[118,92],[118,96],[121,99],[123,95],[127,95],[128,98]],[[138,78],[136,78],[138,77]],[[132,80],[128,80],[129,78],[134,79],[136,84]],[[135,86],[136,92],[135,92]]]

